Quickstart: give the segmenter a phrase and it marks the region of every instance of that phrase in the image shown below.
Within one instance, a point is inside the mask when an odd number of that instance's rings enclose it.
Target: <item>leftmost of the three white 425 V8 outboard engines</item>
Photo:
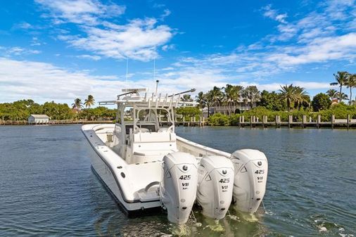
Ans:
[[[196,200],[197,165],[196,158],[189,153],[170,153],[163,158],[160,200],[167,208],[170,222],[184,224],[189,219]]]

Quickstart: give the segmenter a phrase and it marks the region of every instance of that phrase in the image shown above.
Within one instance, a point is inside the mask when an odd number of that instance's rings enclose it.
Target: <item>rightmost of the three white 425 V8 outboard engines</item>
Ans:
[[[265,196],[268,163],[260,150],[236,150],[231,155],[234,163],[234,206],[241,212],[254,213]]]

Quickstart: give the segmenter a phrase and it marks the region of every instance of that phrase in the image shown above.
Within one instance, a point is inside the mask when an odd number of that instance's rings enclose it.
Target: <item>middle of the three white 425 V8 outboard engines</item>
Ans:
[[[217,155],[201,159],[196,199],[205,216],[224,218],[231,204],[233,188],[234,165],[231,160]]]

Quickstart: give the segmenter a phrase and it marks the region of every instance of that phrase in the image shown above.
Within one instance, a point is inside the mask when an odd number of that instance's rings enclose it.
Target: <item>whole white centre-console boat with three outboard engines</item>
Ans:
[[[230,154],[177,136],[174,108],[196,105],[181,100],[190,91],[161,96],[125,89],[116,101],[101,102],[117,105],[117,119],[82,126],[97,153],[91,158],[94,172],[128,212],[163,207],[177,224],[189,219],[194,204],[214,219],[224,218],[231,203],[241,212],[256,212],[265,196],[265,154]]]

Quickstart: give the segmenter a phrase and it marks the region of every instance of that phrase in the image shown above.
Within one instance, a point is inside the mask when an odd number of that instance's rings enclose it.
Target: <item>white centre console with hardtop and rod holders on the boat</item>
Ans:
[[[174,132],[174,108],[196,105],[182,101],[177,94],[148,94],[146,89],[124,89],[116,101],[103,101],[101,105],[117,105],[113,141],[108,144],[128,163],[162,160],[177,151]]]

